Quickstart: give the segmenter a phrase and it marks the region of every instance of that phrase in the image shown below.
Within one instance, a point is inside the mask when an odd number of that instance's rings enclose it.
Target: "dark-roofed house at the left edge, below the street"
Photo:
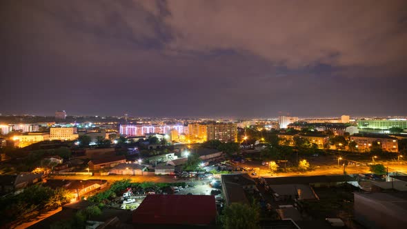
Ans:
[[[0,195],[18,194],[24,188],[42,181],[42,174],[0,175]]]

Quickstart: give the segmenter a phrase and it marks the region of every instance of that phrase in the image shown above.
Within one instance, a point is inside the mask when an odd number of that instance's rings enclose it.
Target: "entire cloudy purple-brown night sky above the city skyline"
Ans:
[[[1,1],[0,113],[407,115],[407,1]]]

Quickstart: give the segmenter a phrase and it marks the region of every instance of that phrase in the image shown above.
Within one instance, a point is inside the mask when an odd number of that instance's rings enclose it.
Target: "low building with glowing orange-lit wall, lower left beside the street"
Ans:
[[[89,179],[89,180],[54,180],[48,179],[44,186],[48,186],[50,188],[63,188],[70,192],[71,194],[71,202],[80,199],[83,195],[88,192],[92,192],[95,190],[100,190],[107,186],[106,180],[97,180],[97,179]]]

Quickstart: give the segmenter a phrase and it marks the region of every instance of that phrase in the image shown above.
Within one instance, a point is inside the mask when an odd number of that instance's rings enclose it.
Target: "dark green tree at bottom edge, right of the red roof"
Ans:
[[[252,208],[245,203],[231,203],[220,217],[225,229],[255,229],[259,227],[259,208]]]

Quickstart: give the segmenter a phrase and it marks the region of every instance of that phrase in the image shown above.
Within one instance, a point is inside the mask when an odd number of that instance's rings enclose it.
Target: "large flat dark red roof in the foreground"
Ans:
[[[216,215],[212,195],[147,195],[133,212],[133,223],[209,225]]]

